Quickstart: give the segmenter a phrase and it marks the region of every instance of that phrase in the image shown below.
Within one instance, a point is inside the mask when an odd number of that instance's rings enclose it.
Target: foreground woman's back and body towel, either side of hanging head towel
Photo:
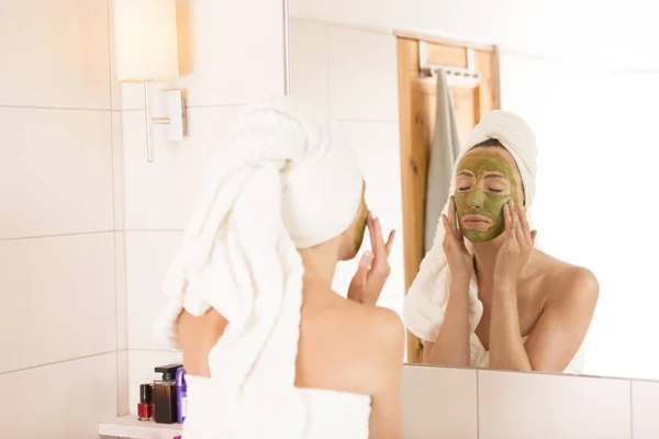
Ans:
[[[214,309],[201,317],[183,312],[179,318],[189,408],[196,414],[186,419],[187,429],[208,431],[213,419],[224,434],[231,432],[219,421],[222,390],[208,379],[209,352],[226,325]],[[392,311],[357,304],[330,290],[305,289],[295,376],[306,408],[305,437],[366,439],[369,431],[370,437],[400,437],[403,346],[403,326]]]

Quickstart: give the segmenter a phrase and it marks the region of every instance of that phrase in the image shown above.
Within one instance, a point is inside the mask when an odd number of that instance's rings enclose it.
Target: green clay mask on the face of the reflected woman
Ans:
[[[467,175],[469,177],[461,177]],[[503,206],[511,200],[520,205],[513,166],[500,154],[479,148],[465,156],[457,176],[454,199],[462,235],[472,243],[496,238],[505,229]],[[493,176],[505,178],[510,190],[506,188],[502,191],[506,183]],[[491,224],[487,229],[467,228],[462,223],[465,215],[485,216],[491,219]]]

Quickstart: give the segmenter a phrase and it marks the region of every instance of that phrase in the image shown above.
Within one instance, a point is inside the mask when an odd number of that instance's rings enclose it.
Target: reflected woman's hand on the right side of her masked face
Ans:
[[[494,262],[494,280],[514,285],[528,261],[537,232],[529,229],[524,209],[516,207],[512,201],[503,206],[503,218],[505,230]]]

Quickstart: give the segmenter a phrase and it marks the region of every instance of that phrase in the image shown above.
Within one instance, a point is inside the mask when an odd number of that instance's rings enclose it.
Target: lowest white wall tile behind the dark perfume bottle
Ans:
[[[139,402],[139,384],[153,383],[163,378],[154,372],[159,365],[178,363],[182,364],[181,352],[167,352],[158,350],[129,350],[129,408],[131,414],[137,413]]]

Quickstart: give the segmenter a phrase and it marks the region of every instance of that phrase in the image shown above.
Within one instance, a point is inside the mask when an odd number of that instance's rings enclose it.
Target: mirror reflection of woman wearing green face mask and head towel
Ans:
[[[518,116],[483,115],[457,160],[433,249],[405,299],[424,362],[578,372],[599,296],[585,268],[534,248],[535,137]]]

